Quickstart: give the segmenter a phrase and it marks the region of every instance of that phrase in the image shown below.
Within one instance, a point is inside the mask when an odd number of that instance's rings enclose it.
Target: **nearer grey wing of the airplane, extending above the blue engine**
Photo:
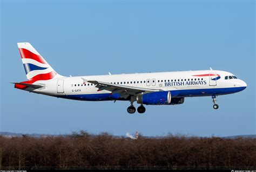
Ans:
[[[92,84],[95,84],[97,88],[99,88],[98,91],[106,90],[110,91],[112,94],[119,93],[121,98],[127,98],[130,95],[137,95],[140,93],[149,93],[149,92],[158,92],[163,90],[158,89],[149,89],[149,88],[140,88],[140,87],[132,87],[132,86],[126,86],[126,85],[118,85],[118,84],[111,84],[108,82],[102,82],[97,80],[86,80],[82,78],[84,82],[89,82]]]

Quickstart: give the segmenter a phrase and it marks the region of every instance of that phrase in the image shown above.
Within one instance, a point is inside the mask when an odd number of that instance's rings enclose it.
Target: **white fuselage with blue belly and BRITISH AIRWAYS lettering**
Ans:
[[[215,76],[211,76],[211,73],[218,74],[219,78],[216,79]],[[36,81],[33,84],[44,87],[37,90],[28,89],[27,91],[75,100],[120,99],[118,96],[111,95],[110,91],[99,91],[94,84],[84,82],[83,78],[116,85],[171,91],[172,97],[224,95],[239,92],[246,88],[247,85],[244,81],[234,78],[225,79],[228,76],[233,76],[233,74],[225,71],[205,70],[63,77]]]

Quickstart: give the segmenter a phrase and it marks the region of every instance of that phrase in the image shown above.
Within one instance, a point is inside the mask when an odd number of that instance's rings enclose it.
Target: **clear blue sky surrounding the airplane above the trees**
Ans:
[[[30,42],[60,74],[224,70],[246,90],[177,106],[85,102],[17,90],[17,42]],[[255,1],[1,1],[0,130],[17,133],[198,136],[256,134]]]

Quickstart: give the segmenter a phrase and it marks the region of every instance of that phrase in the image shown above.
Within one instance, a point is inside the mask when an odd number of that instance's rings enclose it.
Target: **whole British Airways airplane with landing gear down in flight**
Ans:
[[[144,105],[179,105],[187,97],[212,97],[213,108],[218,95],[245,90],[246,82],[234,74],[219,70],[151,72],[133,74],[64,77],[58,74],[30,43],[17,43],[27,81],[11,82],[15,88],[52,97],[82,100],[130,101],[129,114],[136,112],[133,103]]]

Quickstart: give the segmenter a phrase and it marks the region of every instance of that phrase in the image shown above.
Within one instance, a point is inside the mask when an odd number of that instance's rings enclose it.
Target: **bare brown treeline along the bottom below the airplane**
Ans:
[[[7,138],[0,169],[255,169],[256,139],[167,136],[137,140],[107,133]]]

